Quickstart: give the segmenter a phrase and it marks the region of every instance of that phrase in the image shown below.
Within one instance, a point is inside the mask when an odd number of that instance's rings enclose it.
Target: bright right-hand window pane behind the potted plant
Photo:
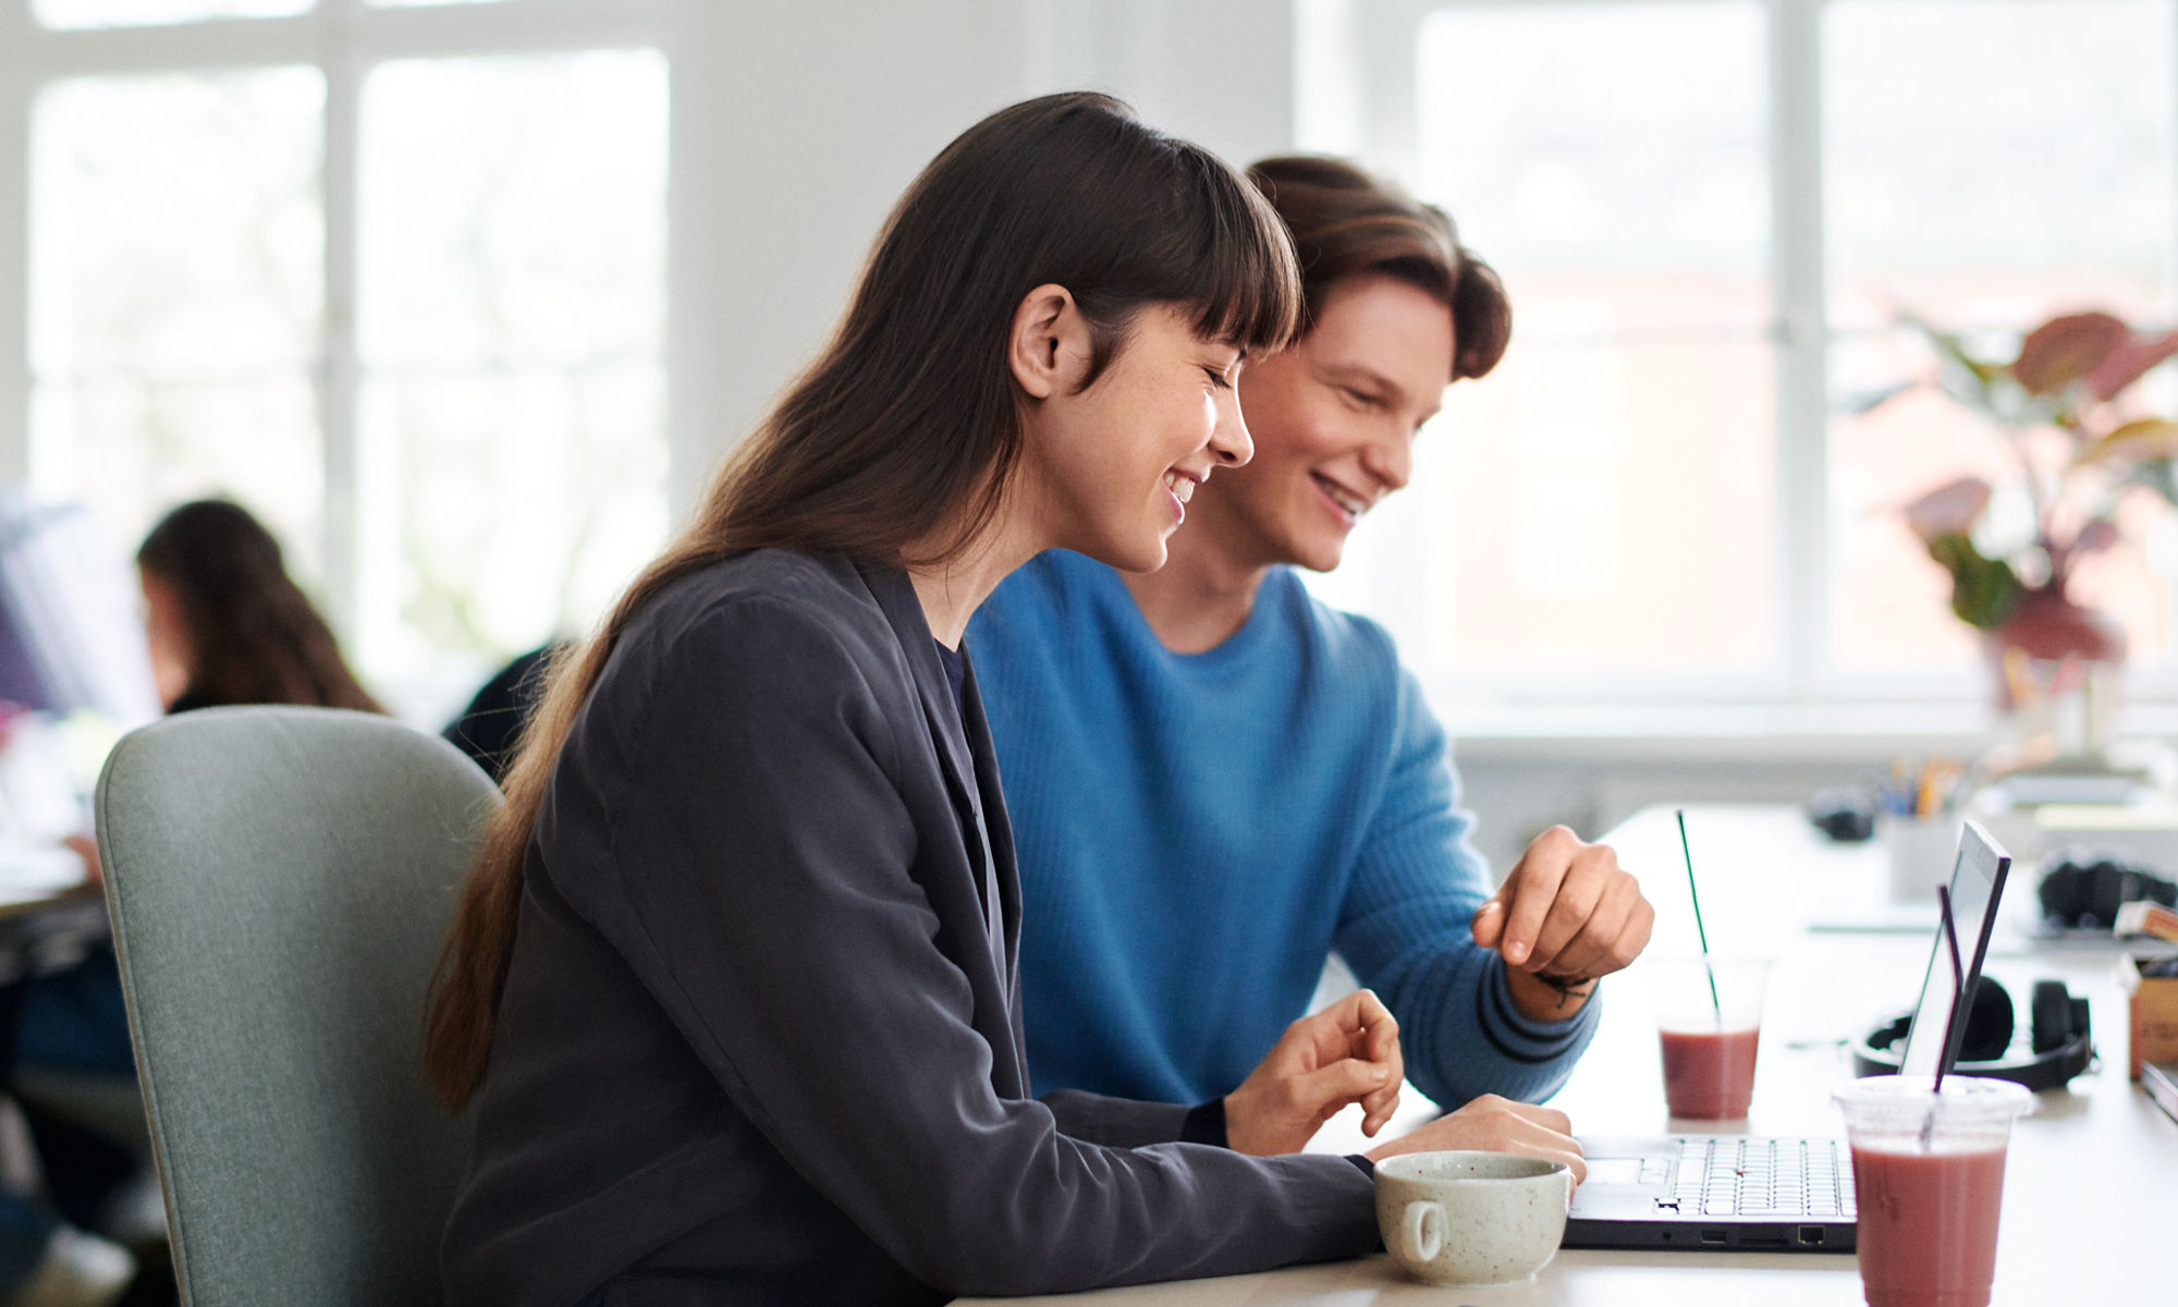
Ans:
[[[1836,0],[1823,57],[1840,396],[1912,372],[1912,342],[1893,329],[1899,309],[1993,335],[2080,307],[2169,320],[2171,4]],[[1843,671],[1973,656],[1973,634],[1949,621],[1943,573],[1895,505],[1967,471],[2002,477],[2002,460],[1989,429],[1930,392],[1832,423],[1832,658]],[[2148,553],[2169,523],[2139,518],[2080,584],[2126,623],[2132,662],[2154,669],[2171,656],[2171,577]]]

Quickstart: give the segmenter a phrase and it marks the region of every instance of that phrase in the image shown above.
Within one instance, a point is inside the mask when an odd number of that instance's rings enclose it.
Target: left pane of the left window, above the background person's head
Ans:
[[[33,115],[33,473],[148,527],[233,494],[322,575],[325,78],[87,76]],[[155,196],[155,198],[152,198]]]

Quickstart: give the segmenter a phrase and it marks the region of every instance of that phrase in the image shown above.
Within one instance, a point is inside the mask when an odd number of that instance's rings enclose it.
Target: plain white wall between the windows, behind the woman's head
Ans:
[[[1294,142],[1289,0],[684,0],[675,13],[675,516],[823,342],[893,198],[984,113],[1104,89],[1237,163]]]

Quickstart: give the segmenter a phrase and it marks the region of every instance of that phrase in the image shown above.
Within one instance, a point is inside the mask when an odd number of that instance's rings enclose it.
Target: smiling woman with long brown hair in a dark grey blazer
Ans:
[[[1261,196],[1104,96],[993,113],[908,187],[507,773],[425,1056],[475,1102],[455,1307],[939,1303],[1374,1248],[1366,1165],[1187,1141],[1215,1102],[1028,1096],[960,649],[1043,549],[1163,562],[1296,312]],[[1263,1074],[1285,1111],[1381,1120],[1394,1046],[1361,995]]]

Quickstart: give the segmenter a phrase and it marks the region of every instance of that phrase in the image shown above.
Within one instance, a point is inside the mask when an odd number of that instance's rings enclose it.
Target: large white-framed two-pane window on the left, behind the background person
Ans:
[[[244,501],[427,721],[586,627],[666,529],[656,7],[11,4],[33,490]]]

